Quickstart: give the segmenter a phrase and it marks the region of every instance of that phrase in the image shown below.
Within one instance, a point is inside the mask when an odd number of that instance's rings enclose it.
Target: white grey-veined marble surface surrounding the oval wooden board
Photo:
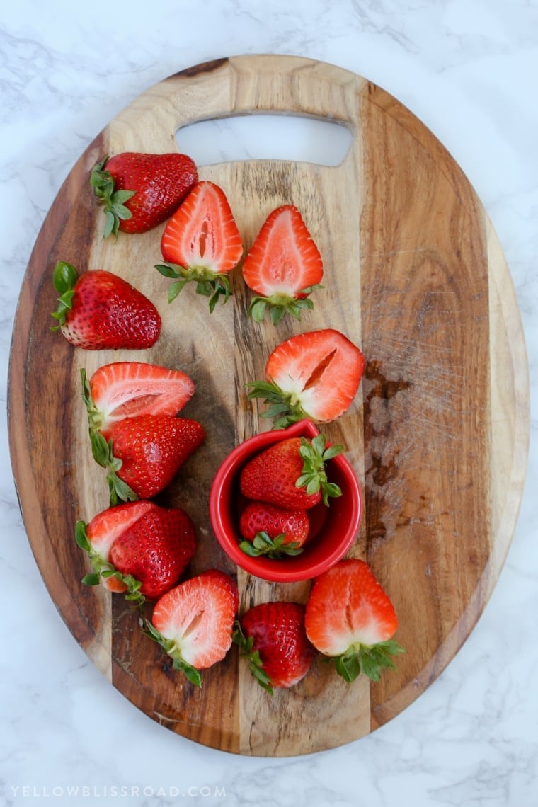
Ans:
[[[507,255],[536,395],[537,0],[18,0],[0,12],[2,403],[31,247],[82,149],[170,73],[256,52],[311,56],[361,73],[448,147]],[[171,734],[96,671],[40,579],[7,461],[5,418],[1,429],[1,805],[538,804],[536,440],[503,574],[440,679],[369,737],[268,760]],[[68,786],[78,796],[69,797]]]

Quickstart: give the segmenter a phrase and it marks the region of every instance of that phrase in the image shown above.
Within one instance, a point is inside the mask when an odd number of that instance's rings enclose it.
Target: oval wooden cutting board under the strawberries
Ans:
[[[246,317],[240,271],[233,298],[209,314],[183,291],[167,302],[161,228],[102,239],[88,183],[105,154],[166,152],[201,119],[254,112],[315,115],[352,132],[337,167],[240,161],[201,168],[226,191],[248,249],[273,207],[302,211],[325,264],[315,311],[274,328]],[[164,226],[164,225],[163,225]],[[49,332],[57,260],[102,267],[150,297],[163,316],[155,348],[133,354],[73,349]],[[191,567],[237,575],[241,609],[305,601],[308,583],[249,578],[211,533],[211,480],[226,454],[269,428],[244,384],[292,332],[333,327],[361,345],[365,376],[351,410],[324,431],[346,445],[365,490],[351,555],[366,558],[398,612],[407,648],[379,684],[344,684],[316,662],[290,691],[266,696],[232,648],[201,691],[171,670],[119,596],[86,588],[75,521],[106,507],[90,456],[79,370],[138,358],[180,367],[196,384],[185,414],[206,444],[161,495],[198,526]],[[23,518],[52,599],[73,636],[120,692],[169,729],[224,751],[289,756],[339,746],[386,723],[453,658],[482,613],[519,512],[528,449],[528,366],[515,294],[490,221],[432,133],[357,75],[300,57],[239,56],[198,65],[152,87],[87,148],[36,241],[24,278],[10,362],[12,464]],[[263,411],[263,404],[259,404]]]

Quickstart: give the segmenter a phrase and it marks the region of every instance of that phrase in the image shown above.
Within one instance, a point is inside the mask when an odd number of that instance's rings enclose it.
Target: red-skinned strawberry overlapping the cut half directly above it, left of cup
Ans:
[[[108,470],[111,505],[164,490],[206,436],[197,420],[170,415],[125,417],[109,434],[106,441],[90,429],[94,459]]]

